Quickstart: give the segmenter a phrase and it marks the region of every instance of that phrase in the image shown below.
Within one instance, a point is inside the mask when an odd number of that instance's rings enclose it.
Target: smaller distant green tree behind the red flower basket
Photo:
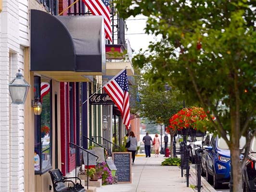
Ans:
[[[147,72],[145,72],[145,75],[147,75]],[[163,123],[168,129],[170,117],[182,108],[182,104],[177,101],[176,96],[178,91],[164,91],[163,89],[164,86],[159,90],[152,89],[147,81],[141,81],[140,114],[142,117],[154,123]],[[173,137],[176,132],[171,129],[169,131],[171,136],[170,154],[173,157]]]

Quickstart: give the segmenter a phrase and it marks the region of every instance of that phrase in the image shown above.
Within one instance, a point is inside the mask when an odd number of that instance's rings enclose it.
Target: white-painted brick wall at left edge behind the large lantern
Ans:
[[[24,69],[28,0],[3,0],[0,13],[0,192],[24,192],[24,107],[12,105],[9,82]],[[22,47],[24,46],[24,47]]]

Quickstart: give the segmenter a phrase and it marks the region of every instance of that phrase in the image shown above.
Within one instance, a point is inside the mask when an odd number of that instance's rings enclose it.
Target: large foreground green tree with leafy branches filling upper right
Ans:
[[[148,16],[145,32],[162,36],[151,42],[151,55],[140,54],[133,63],[140,67],[150,63],[150,84],[171,82],[186,103],[216,117],[211,124],[230,147],[233,191],[241,191],[245,161],[240,162],[239,139],[247,136],[248,149],[256,134],[256,1],[116,0],[116,4],[123,18]],[[219,111],[219,104],[226,106],[225,111]]]

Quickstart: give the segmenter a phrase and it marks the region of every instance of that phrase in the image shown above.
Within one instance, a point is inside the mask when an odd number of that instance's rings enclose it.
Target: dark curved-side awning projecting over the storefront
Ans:
[[[102,16],[53,16],[31,10],[31,71],[104,74],[104,41]]]

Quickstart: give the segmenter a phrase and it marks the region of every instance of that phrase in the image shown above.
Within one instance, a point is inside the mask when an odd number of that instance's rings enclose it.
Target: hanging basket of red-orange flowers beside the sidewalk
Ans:
[[[204,136],[206,127],[203,127],[203,130],[198,130],[197,123],[207,120],[207,115],[203,108],[183,108],[170,118],[169,129],[176,130],[181,135],[201,137]]]

